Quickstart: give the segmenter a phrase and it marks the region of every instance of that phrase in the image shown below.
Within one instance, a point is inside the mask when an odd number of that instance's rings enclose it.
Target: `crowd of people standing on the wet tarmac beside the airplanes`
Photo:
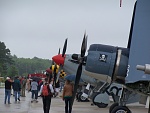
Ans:
[[[42,97],[43,102],[43,111],[44,113],[49,113],[51,98],[56,97],[59,94],[59,91],[62,90],[60,87],[60,82],[54,83],[54,79],[49,80],[48,78],[36,80],[34,78],[26,78],[26,77],[15,77],[10,78],[7,77],[5,81],[5,99],[4,104],[11,104],[10,98],[11,95],[14,96],[15,102],[21,101],[20,97],[26,97],[25,92],[31,92],[31,103],[38,102],[38,97]],[[48,93],[46,93],[46,89],[48,89]],[[45,90],[45,92],[44,92]],[[44,92],[44,93],[43,93]],[[73,95],[73,85],[70,81],[66,81],[63,93],[62,100],[65,101],[65,113],[71,113],[72,111],[72,100]]]

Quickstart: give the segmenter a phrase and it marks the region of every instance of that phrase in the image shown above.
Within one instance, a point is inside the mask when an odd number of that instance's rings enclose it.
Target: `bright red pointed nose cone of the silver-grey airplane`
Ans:
[[[59,54],[59,55],[53,56],[52,59],[57,65],[64,65],[65,55],[64,57],[62,57],[62,55]]]

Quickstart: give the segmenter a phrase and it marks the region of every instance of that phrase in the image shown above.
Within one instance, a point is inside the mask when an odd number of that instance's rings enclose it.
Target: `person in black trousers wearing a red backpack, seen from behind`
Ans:
[[[41,86],[40,89],[44,113],[49,113],[53,93],[54,89],[52,84],[48,83],[48,78],[45,78],[45,83]]]

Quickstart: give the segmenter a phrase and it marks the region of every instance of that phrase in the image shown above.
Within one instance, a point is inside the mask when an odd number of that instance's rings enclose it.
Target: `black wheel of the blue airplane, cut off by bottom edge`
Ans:
[[[111,113],[131,113],[131,111],[126,106],[116,106]]]

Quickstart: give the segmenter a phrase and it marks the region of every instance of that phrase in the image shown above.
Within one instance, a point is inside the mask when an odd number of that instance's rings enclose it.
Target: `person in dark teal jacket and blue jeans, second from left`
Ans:
[[[13,83],[13,90],[15,93],[15,102],[17,102],[17,99],[20,101],[21,84],[19,81],[19,77],[15,77],[15,80]]]

